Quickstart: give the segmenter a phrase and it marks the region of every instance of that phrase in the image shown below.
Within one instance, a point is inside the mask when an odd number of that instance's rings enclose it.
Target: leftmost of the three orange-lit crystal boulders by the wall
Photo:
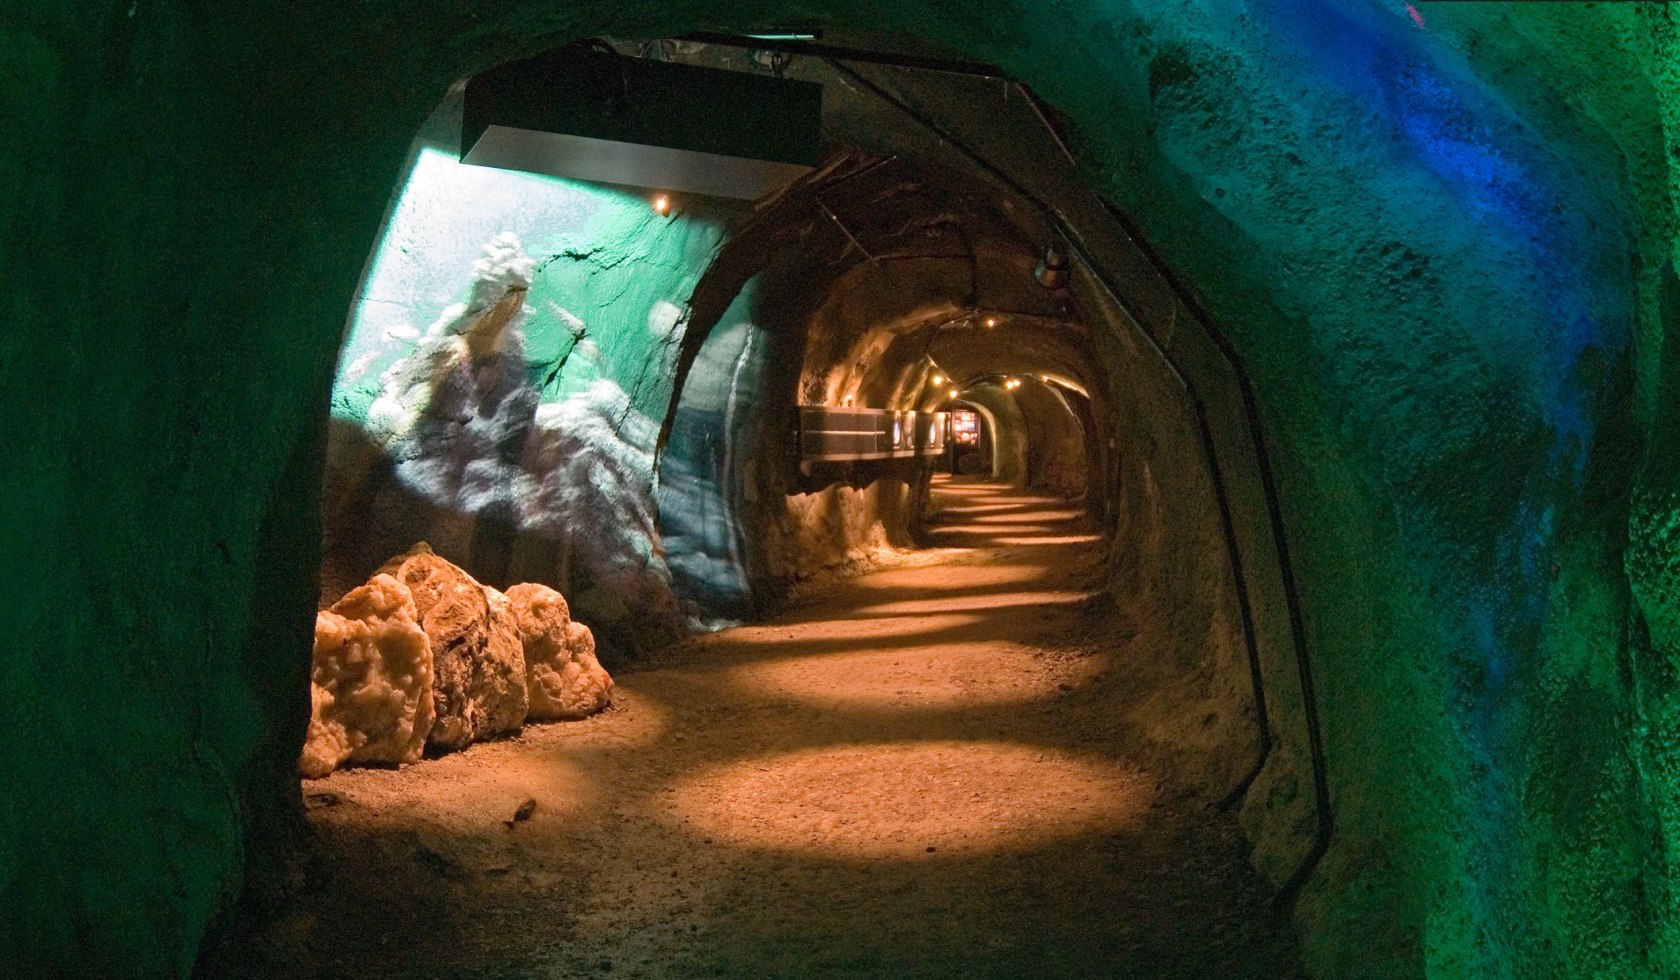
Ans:
[[[402,582],[375,575],[316,614],[309,701],[302,775],[420,761],[433,716],[432,645]]]

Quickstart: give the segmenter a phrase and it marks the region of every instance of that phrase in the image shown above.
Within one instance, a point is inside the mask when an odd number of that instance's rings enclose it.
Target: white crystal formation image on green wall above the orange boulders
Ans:
[[[417,346],[380,377],[368,444],[334,435],[329,551],[344,548],[343,565],[360,570],[423,536],[486,578],[566,590],[605,640],[657,649],[682,630],[657,545],[659,422],[606,377],[543,403],[526,361],[534,272],[517,237],[496,235],[472,269],[469,301],[423,336],[413,331]],[[549,306],[576,338],[573,373],[606,371],[583,321]],[[667,356],[679,350],[680,328],[674,304],[648,318]],[[645,371],[669,366],[650,361]],[[346,526],[341,513],[358,514],[356,524]]]

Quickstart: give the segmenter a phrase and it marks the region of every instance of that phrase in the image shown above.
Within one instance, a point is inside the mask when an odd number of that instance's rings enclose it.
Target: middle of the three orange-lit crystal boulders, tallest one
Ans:
[[[457,750],[517,731],[526,719],[524,647],[501,592],[479,585],[423,541],[380,572],[413,592],[420,627],[432,640],[432,704],[427,745]]]

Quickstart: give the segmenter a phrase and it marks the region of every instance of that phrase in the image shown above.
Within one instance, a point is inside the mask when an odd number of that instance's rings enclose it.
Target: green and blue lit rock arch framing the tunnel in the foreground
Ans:
[[[8,967],[186,973],[296,812],[343,316],[447,86],[818,15],[1033,84],[1247,363],[1337,820],[1297,908],[1314,970],[1680,973],[1675,15],[1415,13],[13,5]]]

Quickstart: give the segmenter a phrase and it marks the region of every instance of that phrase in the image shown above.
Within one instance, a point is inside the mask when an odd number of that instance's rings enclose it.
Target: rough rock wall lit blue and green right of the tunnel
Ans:
[[[1628,343],[1670,249],[1667,202],[1635,217],[1656,99],[1633,61],[1566,67],[1651,22],[1416,10],[1131,5],[1085,55],[1137,52],[1104,72],[1127,123],[1080,140],[1136,121],[1104,188],[1231,333],[1268,424],[1336,819],[1297,908],[1309,963],[1673,972],[1636,938],[1672,928],[1641,925],[1672,914],[1640,857],[1667,783],[1636,788],[1650,681],[1614,679],[1638,662]],[[1079,114],[1090,91],[1045,96]],[[1648,220],[1665,244],[1630,264]],[[1275,775],[1250,809],[1309,785]]]

